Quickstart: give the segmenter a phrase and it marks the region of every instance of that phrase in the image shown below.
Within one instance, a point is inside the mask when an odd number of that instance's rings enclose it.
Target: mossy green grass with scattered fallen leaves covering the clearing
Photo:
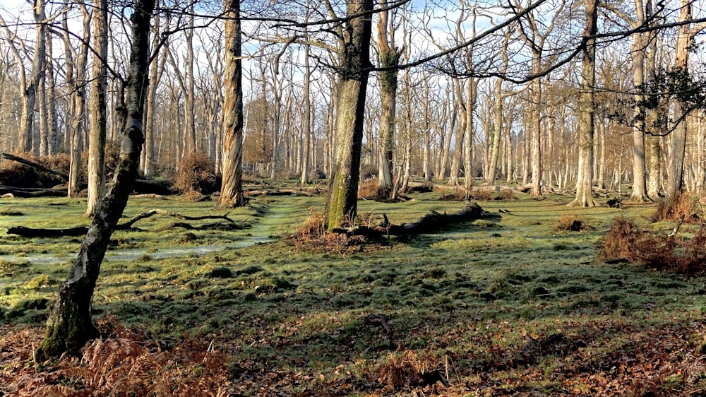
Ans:
[[[361,201],[359,213],[379,218],[385,213],[391,222],[405,223],[464,205],[438,196]],[[112,317],[157,340],[179,340],[187,333],[214,340],[232,355],[233,377],[246,394],[257,394],[272,379],[288,393],[307,387],[344,395],[407,393],[415,387],[427,388],[427,395],[441,393],[433,389],[439,384],[385,381],[385,363],[410,350],[448,375],[444,390],[450,395],[590,390],[595,381],[581,379],[613,376],[611,367],[640,357],[648,336],[659,339],[674,327],[701,321],[702,277],[595,260],[597,242],[613,218],[626,215],[647,225],[651,206],[579,209],[565,206],[568,197],[517,196],[479,203],[493,213],[491,223],[453,225],[347,256],[301,251],[282,240],[233,248],[253,236],[294,232],[310,208],[323,211],[323,197],[260,198],[231,213],[249,225],[244,230],[196,231],[189,239],[183,239],[186,230],[150,231],[173,221],[150,218],[136,224],[147,231],[114,235],[112,250],[145,252],[129,261],[107,257],[94,309],[97,317]],[[4,235],[2,228],[85,225],[83,205],[68,198],[0,203],[23,213],[0,217],[1,254],[78,250],[75,237],[23,239]],[[143,198],[128,203],[126,217],[151,208],[192,216],[222,213],[213,203]],[[557,232],[561,215],[580,216],[592,230]],[[671,229],[669,223],[652,227]],[[155,259],[175,246],[201,245],[218,249]],[[69,261],[0,262],[4,321],[41,326]],[[381,314],[393,324],[392,346],[371,321]],[[690,343],[674,349],[695,348]],[[681,387],[681,381],[672,377],[669,384]]]

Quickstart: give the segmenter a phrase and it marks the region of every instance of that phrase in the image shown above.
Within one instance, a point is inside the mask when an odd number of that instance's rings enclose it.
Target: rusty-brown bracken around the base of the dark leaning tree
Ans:
[[[4,391],[10,396],[75,397],[229,396],[232,392],[225,366],[228,356],[208,340],[186,336],[173,348],[162,350],[155,340],[119,324],[102,320],[99,328],[110,333],[85,345],[80,359],[62,357],[55,363],[33,361],[32,350],[40,342],[38,329],[2,338],[0,350],[13,349],[19,359],[11,368],[11,379],[0,374]],[[23,362],[30,365],[22,366]]]

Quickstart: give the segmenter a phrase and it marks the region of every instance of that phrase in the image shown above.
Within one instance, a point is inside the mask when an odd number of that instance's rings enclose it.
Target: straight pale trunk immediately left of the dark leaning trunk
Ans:
[[[93,12],[93,77],[90,92],[90,130],[88,133],[88,200],[85,216],[95,215],[97,203],[105,193],[106,90],[108,87],[108,1],[100,0]]]

